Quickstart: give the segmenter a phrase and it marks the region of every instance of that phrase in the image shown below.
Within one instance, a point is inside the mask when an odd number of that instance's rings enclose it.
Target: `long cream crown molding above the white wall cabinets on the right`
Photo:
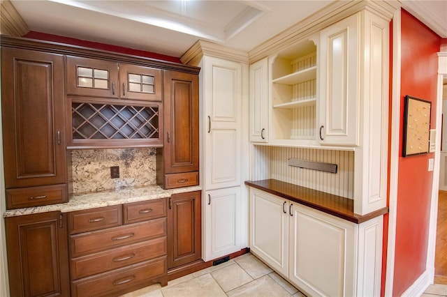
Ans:
[[[332,2],[313,15],[310,15],[301,22],[298,22],[289,29],[282,31],[277,36],[270,38],[265,43],[249,51],[250,63],[263,59],[263,57],[269,56],[270,54],[277,53],[300,40],[309,38],[309,36],[321,31],[321,29],[339,22],[354,13],[358,13],[361,10],[368,10],[390,21],[393,18],[395,10],[399,7],[400,4],[398,1],[351,0]]]

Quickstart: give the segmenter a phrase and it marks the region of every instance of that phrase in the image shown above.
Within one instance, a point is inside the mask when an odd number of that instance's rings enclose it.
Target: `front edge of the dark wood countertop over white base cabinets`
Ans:
[[[258,190],[263,190],[263,191],[268,192],[272,195],[277,195],[281,198],[294,201],[298,204],[308,206],[309,208],[316,209],[317,211],[321,211],[323,213],[328,213],[329,215],[334,215],[337,218],[341,218],[343,220],[347,220],[349,222],[353,222],[356,224],[361,224],[362,222],[367,222],[368,220],[372,220],[373,218],[376,218],[376,217],[379,217],[380,215],[384,215],[384,214],[388,213],[388,207],[380,208],[376,211],[372,211],[371,213],[367,213],[366,215],[358,215],[356,213],[349,213],[349,214],[341,213],[341,212],[337,211],[336,209],[328,208],[321,204],[315,204],[315,203],[312,203],[311,201],[307,201],[305,199],[300,199],[300,197],[287,195],[284,192],[280,192],[280,191],[274,190],[272,188],[265,188],[263,185],[256,184],[256,181],[245,181],[245,185],[248,185],[252,188],[256,188]]]

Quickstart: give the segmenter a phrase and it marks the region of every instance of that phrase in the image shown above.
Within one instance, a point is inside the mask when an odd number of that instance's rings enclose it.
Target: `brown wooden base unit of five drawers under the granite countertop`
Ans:
[[[74,211],[68,218],[72,296],[166,286],[165,198]]]

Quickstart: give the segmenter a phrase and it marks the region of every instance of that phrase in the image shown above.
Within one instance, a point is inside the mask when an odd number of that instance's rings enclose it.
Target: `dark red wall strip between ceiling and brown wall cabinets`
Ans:
[[[134,50],[129,47],[120,47],[118,45],[107,45],[105,43],[95,43],[93,41],[52,35],[52,34],[47,34],[47,33],[36,32],[36,31],[30,31],[23,37],[39,39],[39,40],[47,40],[47,41],[52,41],[54,43],[66,43],[68,45],[79,45],[81,47],[90,47],[90,48],[94,48],[96,50],[107,50],[110,52],[119,52],[121,54],[131,54],[133,56],[144,56],[146,58],[158,59],[158,60],[175,62],[175,63],[182,63],[182,61],[180,61],[179,58],[177,58],[175,56],[167,56],[166,54],[156,54],[154,52],[146,52],[143,50]]]

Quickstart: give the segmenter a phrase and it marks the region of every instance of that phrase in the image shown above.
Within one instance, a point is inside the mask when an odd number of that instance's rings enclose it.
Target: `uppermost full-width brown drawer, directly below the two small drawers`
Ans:
[[[72,235],[71,257],[166,236],[166,218]]]

